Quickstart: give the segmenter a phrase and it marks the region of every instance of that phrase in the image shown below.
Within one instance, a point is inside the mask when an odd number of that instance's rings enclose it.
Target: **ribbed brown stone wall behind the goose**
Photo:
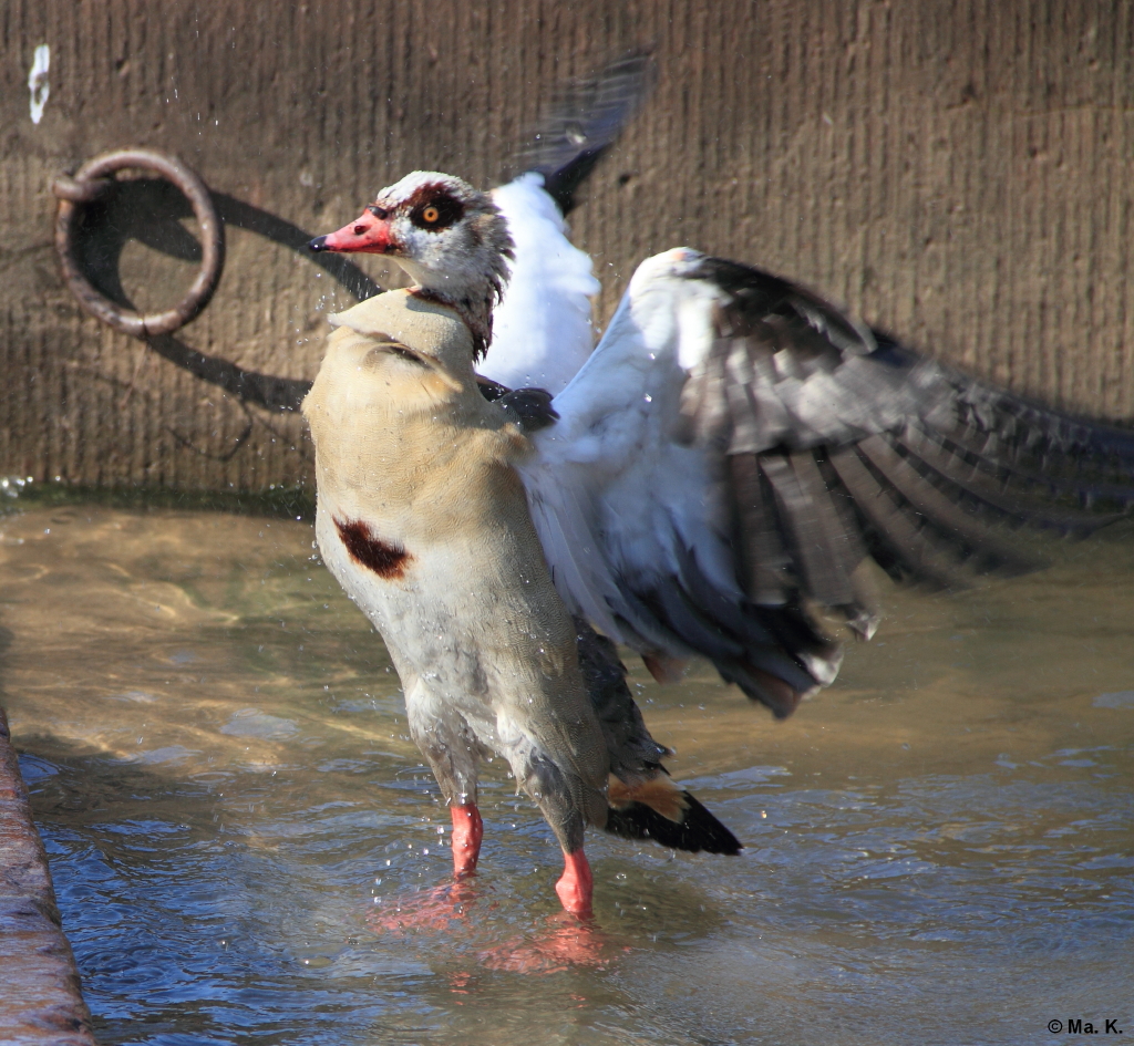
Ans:
[[[642,257],[689,244],[1017,390],[1129,418],[1132,20],[1095,0],[6,0],[0,469],[262,488],[311,467],[294,416],[79,315],[51,246],[56,173],[126,145],[181,155],[243,228],[171,351],[310,377],[323,314],[349,296],[264,215],[328,231],[414,168],[488,186],[558,80],[640,44],[657,92],[573,219],[606,283],[600,321]],[[193,245],[170,198],[142,195],[118,228],[162,249],[128,239],[118,270],[159,307]],[[113,239],[96,218],[95,269]]]

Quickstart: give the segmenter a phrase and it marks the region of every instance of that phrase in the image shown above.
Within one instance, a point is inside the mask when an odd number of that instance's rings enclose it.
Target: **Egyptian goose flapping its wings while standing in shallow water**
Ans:
[[[667,785],[611,643],[659,679],[708,657],[782,717],[838,672],[816,611],[874,630],[869,558],[963,584],[1031,565],[989,518],[1090,529],[1109,517],[1068,502],[1132,499],[1131,434],[968,379],[787,280],[688,248],[638,267],[587,352],[590,263],[539,176],[493,199],[415,172],[312,248],[388,255],[415,280],[338,317],[307,401],[321,548],[390,645],[452,806],[458,876],[480,844],[476,757],[501,751],[562,844],[569,911],[590,910],[584,824],[737,849]],[[510,260],[526,298],[509,313],[505,292],[493,337]],[[401,312],[448,317],[445,351],[395,329],[396,296]],[[379,357],[374,382],[363,360]],[[555,396],[490,403],[501,390],[476,392],[477,360],[496,382],[518,375]],[[474,448],[489,445],[482,461]],[[1056,458],[1073,467],[1060,474]],[[354,500],[338,493],[342,460]],[[618,794],[604,793],[608,774]]]

